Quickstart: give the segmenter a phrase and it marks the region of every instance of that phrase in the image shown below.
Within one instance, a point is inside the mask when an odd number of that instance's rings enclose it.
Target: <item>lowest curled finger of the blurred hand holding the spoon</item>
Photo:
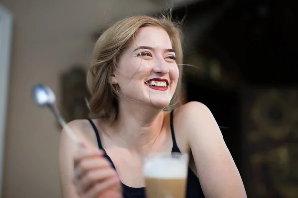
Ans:
[[[113,185],[120,185],[120,180],[118,177],[111,177],[100,183],[96,183],[92,188],[84,194],[83,198],[98,198],[98,195],[104,192],[106,189],[112,187]]]

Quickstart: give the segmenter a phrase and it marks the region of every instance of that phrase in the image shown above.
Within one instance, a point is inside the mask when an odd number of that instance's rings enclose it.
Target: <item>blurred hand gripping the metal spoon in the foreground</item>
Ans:
[[[101,150],[82,148],[74,157],[74,185],[81,198],[122,198],[118,175]]]

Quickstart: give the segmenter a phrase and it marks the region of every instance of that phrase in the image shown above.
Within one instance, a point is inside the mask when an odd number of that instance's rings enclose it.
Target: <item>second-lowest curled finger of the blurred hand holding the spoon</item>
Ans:
[[[87,191],[93,184],[104,182],[113,177],[118,177],[118,175],[112,168],[89,171],[79,180],[79,191]]]

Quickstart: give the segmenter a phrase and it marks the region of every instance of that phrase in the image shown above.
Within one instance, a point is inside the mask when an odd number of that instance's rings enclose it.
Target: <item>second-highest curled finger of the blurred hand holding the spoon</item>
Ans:
[[[106,158],[93,157],[81,160],[74,170],[79,177],[83,177],[90,170],[108,167],[111,167],[111,163]]]

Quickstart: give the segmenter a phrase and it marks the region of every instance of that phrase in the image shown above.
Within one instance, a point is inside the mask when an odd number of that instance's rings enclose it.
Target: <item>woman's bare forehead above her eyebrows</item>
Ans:
[[[142,27],[138,30],[133,47],[150,46],[171,49],[172,44],[168,33],[162,27]]]

